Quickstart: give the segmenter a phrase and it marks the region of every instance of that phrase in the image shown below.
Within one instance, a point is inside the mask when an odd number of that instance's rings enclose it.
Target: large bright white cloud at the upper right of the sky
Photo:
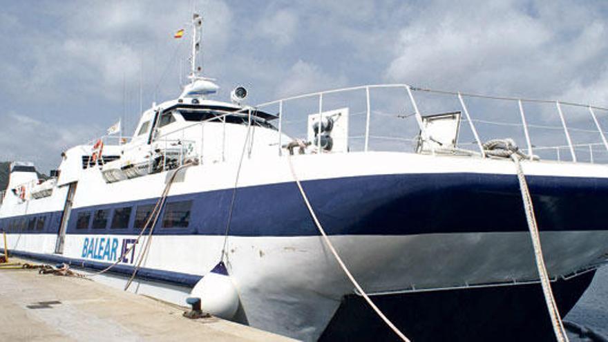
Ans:
[[[608,42],[601,38],[605,19],[589,6],[524,1],[465,1],[458,8],[442,4],[426,6],[423,15],[401,29],[395,57],[385,70],[388,81],[561,97],[572,84],[596,79],[606,64]],[[564,13],[561,5],[571,10]]]

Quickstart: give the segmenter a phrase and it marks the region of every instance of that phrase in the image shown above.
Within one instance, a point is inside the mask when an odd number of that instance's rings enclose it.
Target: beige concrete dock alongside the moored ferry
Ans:
[[[214,317],[186,319],[185,310],[85,278],[0,268],[1,341],[294,341]]]

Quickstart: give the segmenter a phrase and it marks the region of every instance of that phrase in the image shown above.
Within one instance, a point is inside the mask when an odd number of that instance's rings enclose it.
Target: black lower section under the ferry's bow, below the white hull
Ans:
[[[591,283],[587,272],[551,284],[565,316]],[[373,296],[412,341],[555,341],[540,284]],[[360,296],[345,296],[320,341],[400,341]]]

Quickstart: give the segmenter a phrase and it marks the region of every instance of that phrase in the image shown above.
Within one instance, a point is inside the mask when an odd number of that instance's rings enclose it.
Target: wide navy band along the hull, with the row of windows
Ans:
[[[608,179],[528,176],[535,213],[543,231],[608,229]],[[205,180],[201,180],[202,182]],[[409,235],[526,231],[515,175],[433,173],[371,175],[310,180],[303,187],[330,235]],[[160,227],[155,235],[223,235],[232,189],[171,196],[192,200],[187,228]],[[67,234],[129,234],[138,205],[155,198],[73,209]],[[127,229],[76,229],[79,212],[133,207]],[[163,213],[161,213],[162,215]],[[61,213],[48,213],[44,232],[56,234]],[[112,215],[112,214],[111,214]],[[108,218],[108,225],[112,217]],[[0,228],[6,227],[0,220]],[[43,231],[29,231],[31,234]],[[28,233],[24,231],[23,233]],[[316,236],[294,182],[239,188],[231,236]]]

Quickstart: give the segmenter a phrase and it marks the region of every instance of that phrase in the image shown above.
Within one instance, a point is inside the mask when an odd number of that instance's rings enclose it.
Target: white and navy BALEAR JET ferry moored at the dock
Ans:
[[[606,108],[408,84],[222,102],[201,28],[193,15],[190,83],[131,137],[67,149],[48,180],[12,162],[10,254],[303,341],[399,339],[368,298],[412,341],[555,339],[509,155],[565,316],[608,253]],[[505,103],[520,136],[501,158],[482,137],[512,136],[475,108]],[[596,142],[574,141],[582,115]],[[537,138],[538,117],[558,125]]]

